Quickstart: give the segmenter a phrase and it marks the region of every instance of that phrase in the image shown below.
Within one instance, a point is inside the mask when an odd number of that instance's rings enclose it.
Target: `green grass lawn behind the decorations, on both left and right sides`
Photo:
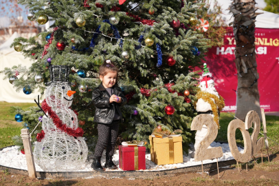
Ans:
[[[35,103],[6,103],[0,102],[0,148],[14,145],[12,137],[21,134],[22,123],[14,121],[14,113],[10,112],[11,106],[22,107],[23,110],[30,106],[36,106]],[[273,141],[269,140],[270,146],[278,146],[279,139],[279,116],[265,116],[267,120],[267,136]],[[220,130],[215,141],[227,143],[227,126],[230,121],[234,119],[234,116],[226,112],[221,112],[220,116]],[[252,129],[249,129],[252,134]],[[263,127],[260,132],[263,133]],[[259,134],[259,137],[262,135]],[[236,130],[236,141],[238,144],[243,145],[243,137],[240,130]],[[274,142],[276,141],[276,143]]]

